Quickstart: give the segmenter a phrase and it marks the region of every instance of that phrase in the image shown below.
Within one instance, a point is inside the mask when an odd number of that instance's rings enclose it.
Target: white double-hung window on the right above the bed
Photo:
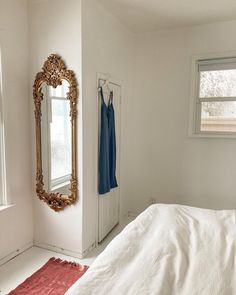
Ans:
[[[236,136],[236,58],[196,59],[193,133]]]

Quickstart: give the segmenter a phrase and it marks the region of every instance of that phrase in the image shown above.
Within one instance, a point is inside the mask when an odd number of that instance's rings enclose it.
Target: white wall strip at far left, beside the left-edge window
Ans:
[[[0,1],[0,46],[6,139],[7,197],[0,211],[0,259],[33,239],[30,108],[28,100],[28,1]]]

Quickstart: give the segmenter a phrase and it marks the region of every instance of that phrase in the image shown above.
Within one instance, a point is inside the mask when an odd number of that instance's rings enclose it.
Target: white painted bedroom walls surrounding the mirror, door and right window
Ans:
[[[32,0],[29,108],[27,1],[4,0],[0,5],[1,43],[3,40],[3,54],[7,52],[4,102],[8,195],[16,203],[0,211],[0,224],[6,225],[0,233],[0,257],[32,240],[32,85],[51,53],[63,57],[68,68],[75,71],[80,89],[83,86],[78,107],[80,200],[55,213],[33,193],[37,242],[75,255],[95,242],[97,72],[109,72],[123,81],[122,214],[127,210],[140,212],[150,198],[235,208],[236,141],[189,138],[187,130],[191,55],[235,50],[236,22],[134,35],[95,0],[82,0],[82,8],[81,1],[76,0]]]

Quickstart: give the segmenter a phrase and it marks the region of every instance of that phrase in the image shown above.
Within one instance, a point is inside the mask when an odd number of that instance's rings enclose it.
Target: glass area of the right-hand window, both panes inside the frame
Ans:
[[[200,71],[201,131],[236,132],[236,69]]]

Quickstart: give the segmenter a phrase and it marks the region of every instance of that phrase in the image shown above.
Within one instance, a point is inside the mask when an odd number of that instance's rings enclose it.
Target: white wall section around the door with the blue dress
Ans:
[[[125,212],[123,199],[123,169],[126,145],[126,105],[131,97],[131,68],[134,54],[134,35],[121,25],[96,0],[82,2],[83,52],[83,249],[94,241],[97,230],[97,159],[98,159],[98,108],[97,73],[110,73],[122,80],[121,138],[121,212]],[[121,213],[121,214],[122,214]]]

